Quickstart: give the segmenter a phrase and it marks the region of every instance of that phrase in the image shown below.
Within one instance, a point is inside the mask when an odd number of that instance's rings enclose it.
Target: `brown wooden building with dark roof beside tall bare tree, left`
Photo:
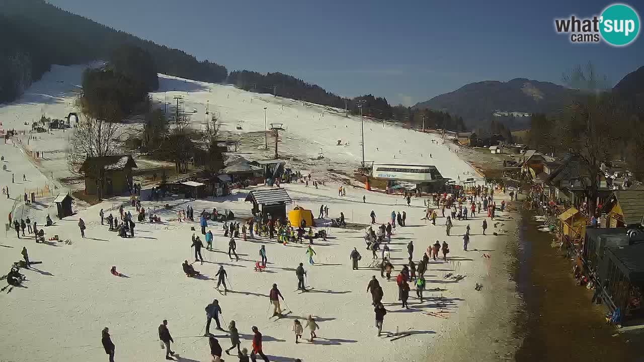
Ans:
[[[85,193],[95,195],[102,187],[102,195],[122,195],[131,189],[132,169],[137,168],[129,155],[88,157],[81,166],[85,175]]]

